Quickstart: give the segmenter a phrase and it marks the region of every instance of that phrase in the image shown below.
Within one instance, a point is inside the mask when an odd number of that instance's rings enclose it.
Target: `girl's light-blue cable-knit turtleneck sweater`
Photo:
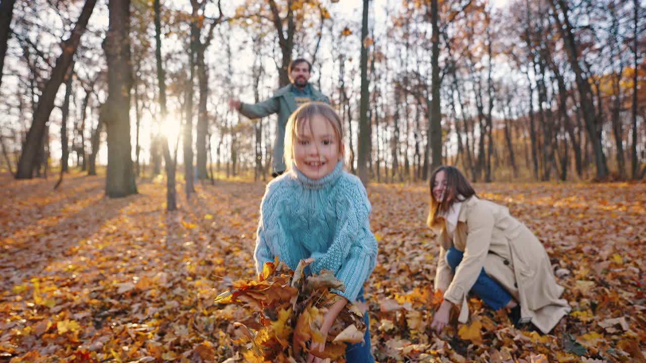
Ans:
[[[278,256],[291,269],[312,257],[311,273],[333,271],[355,301],[375,268],[377,240],[370,231],[370,202],[359,178],[343,170],[311,180],[296,166],[267,184],[260,203],[260,222],[254,258],[260,273],[265,262]]]

